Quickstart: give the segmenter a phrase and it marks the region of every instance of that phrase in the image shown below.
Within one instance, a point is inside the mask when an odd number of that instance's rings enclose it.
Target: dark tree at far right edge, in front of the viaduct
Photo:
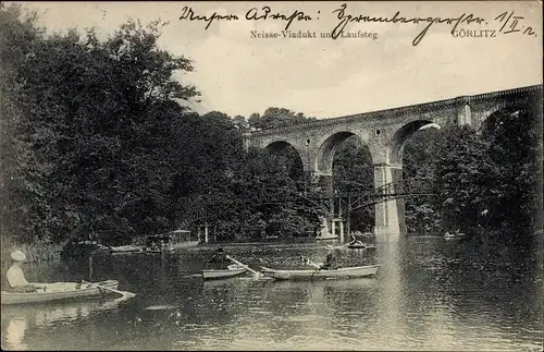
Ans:
[[[482,126],[491,158],[492,206],[487,227],[503,235],[527,236],[536,228],[539,114],[527,108],[499,110]],[[539,191],[537,191],[539,190]]]

